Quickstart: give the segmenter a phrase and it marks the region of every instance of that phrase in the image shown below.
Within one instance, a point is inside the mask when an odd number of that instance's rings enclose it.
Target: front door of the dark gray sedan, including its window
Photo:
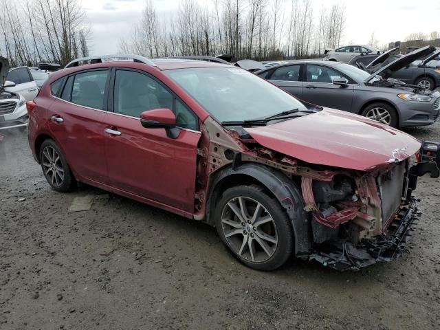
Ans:
[[[336,78],[347,80],[347,85],[334,85]],[[335,69],[324,65],[306,65],[303,100],[322,107],[351,111],[353,84]]]

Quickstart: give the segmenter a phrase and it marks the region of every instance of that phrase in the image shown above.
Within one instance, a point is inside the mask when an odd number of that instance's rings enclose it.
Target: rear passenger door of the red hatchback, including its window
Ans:
[[[74,172],[100,184],[109,184],[104,155],[109,77],[109,69],[72,74],[47,111],[50,131]]]

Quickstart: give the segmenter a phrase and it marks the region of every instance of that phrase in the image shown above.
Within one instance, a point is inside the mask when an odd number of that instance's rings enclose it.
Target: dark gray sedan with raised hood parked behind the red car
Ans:
[[[397,64],[415,61],[402,58],[397,60],[401,63],[395,61],[375,74],[330,61],[298,61],[256,74],[312,104],[358,113],[394,127],[432,124],[439,117],[440,93],[389,79]]]

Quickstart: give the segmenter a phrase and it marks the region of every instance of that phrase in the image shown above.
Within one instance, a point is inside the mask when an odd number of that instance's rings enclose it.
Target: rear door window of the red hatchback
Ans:
[[[104,91],[108,71],[92,71],[76,74],[72,88],[72,103],[104,110]]]

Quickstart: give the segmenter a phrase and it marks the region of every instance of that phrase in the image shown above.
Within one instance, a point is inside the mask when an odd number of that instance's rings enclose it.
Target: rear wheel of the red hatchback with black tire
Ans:
[[[54,165],[52,165],[52,162],[47,162],[48,160],[50,161],[48,157],[53,157],[53,155],[48,155],[47,151],[56,152],[56,157],[54,157]],[[76,179],[72,173],[72,170],[70,170],[65,156],[54,140],[47,139],[43,142],[43,144],[41,144],[39,157],[43,175],[45,176],[47,183],[50,184],[54,190],[58,192],[68,192],[76,187]],[[50,166],[48,166],[48,164]],[[52,170],[50,168],[52,168]],[[54,171],[54,168],[56,168],[56,171]],[[54,174],[55,172],[58,172],[60,168],[63,170],[63,177]],[[61,171],[59,173],[61,173]]]

